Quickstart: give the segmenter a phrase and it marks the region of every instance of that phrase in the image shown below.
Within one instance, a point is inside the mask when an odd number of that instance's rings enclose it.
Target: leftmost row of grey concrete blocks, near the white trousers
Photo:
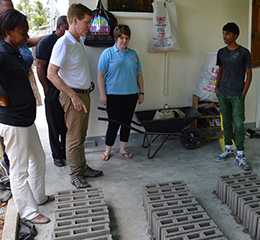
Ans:
[[[52,240],[112,240],[101,188],[56,192]]]

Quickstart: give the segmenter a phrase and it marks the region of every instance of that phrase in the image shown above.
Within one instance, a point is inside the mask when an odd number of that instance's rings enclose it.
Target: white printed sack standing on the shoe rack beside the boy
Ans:
[[[218,102],[215,93],[215,80],[217,79],[219,68],[216,62],[217,53],[209,52],[208,58],[197,79],[197,87],[194,92],[200,98],[200,101]]]

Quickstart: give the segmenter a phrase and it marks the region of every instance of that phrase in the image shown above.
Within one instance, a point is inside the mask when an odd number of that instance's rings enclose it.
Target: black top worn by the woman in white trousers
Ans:
[[[0,92],[9,97],[0,107],[0,123],[29,127],[36,117],[36,100],[28,78],[28,69],[19,52],[0,40]]]

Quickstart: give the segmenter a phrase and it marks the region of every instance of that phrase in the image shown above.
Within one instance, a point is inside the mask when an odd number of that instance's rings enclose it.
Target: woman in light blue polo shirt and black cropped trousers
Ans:
[[[137,53],[128,48],[131,30],[127,25],[114,29],[115,45],[103,51],[98,63],[100,102],[107,107],[109,119],[130,125],[136,103],[144,100],[143,75]],[[107,161],[120,125],[109,122],[106,132],[106,150],[101,160]],[[120,154],[132,158],[126,150],[130,128],[120,127]]]

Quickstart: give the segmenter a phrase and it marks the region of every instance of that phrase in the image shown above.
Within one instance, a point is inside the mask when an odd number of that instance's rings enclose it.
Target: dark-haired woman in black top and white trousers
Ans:
[[[10,157],[10,182],[20,218],[44,224],[49,218],[38,205],[54,200],[45,195],[45,154],[34,125],[36,101],[28,69],[18,50],[28,36],[26,17],[14,9],[0,12],[0,92],[9,98],[0,106],[0,135]]]

